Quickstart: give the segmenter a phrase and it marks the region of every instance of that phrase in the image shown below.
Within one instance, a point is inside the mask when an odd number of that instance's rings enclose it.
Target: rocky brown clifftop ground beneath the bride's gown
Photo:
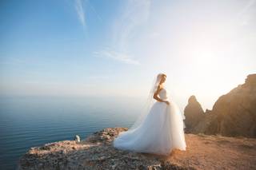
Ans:
[[[30,148],[18,169],[256,169],[256,139],[186,134],[186,151],[170,156],[122,151],[114,137],[127,128],[105,128],[86,140]]]

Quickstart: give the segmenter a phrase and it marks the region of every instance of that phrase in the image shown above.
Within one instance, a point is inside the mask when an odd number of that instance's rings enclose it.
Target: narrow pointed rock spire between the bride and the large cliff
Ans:
[[[188,100],[188,105],[184,109],[185,119],[185,131],[193,132],[193,129],[198,125],[205,116],[202,106],[197,101],[195,96],[191,96]]]

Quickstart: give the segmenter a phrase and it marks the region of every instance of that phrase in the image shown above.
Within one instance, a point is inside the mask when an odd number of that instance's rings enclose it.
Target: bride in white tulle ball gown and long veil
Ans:
[[[174,101],[168,99],[165,81],[166,74],[159,73],[149,97],[151,102],[153,99],[156,102],[128,131],[119,133],[114,139],[114,148],[159,155],[169,155],[174,148],[186,150],[185,117]]]

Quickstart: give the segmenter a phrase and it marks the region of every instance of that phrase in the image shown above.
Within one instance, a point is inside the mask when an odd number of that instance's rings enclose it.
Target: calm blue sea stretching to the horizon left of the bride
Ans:
[[[15,169],[19,157],[34,146],[130,127],[142,104],[142,99],[127,97],[1,97],[0,167]]]

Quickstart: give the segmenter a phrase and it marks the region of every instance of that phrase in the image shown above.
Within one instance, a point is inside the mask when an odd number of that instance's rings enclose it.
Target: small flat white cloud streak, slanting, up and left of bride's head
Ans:
[[[131,57],[130,55],[127,55],[126,53],[117,53],[113,50],[102,50],[99,52],[95,52],[94,54],[96,54],[99,57],[107,57],[110,59],[113,59],[115,61],[121,61],[122,63],[126,63],[129,65],[139,65],[139,61],[134,60],[133,57]]]

